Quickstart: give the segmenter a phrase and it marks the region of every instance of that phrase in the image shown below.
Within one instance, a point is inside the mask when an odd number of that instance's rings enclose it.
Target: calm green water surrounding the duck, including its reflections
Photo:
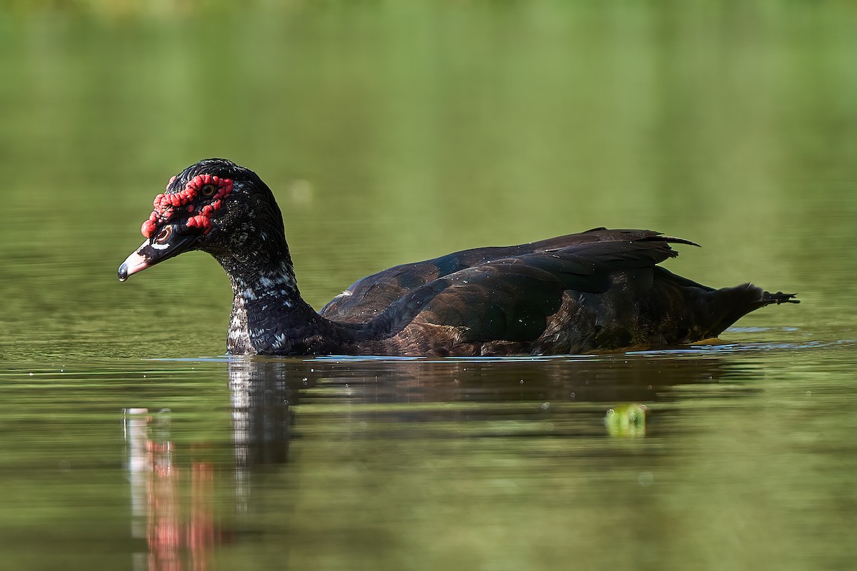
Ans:
[[[0,567],[854,567],[852,4],[69,6],[0,8]],[[803,303],[675,351],[230,361],[212,259],[116,279],[212,156],[314,306],[599,225]]]

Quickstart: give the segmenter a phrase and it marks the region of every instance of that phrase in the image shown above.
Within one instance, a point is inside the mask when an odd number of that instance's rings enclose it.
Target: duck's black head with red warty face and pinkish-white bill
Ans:
[[[180,253],[202,250],[221,264],[246,259],[254,242],[282,241],[283,217],[270,188],[252,170],[223,158],[207,158],[173,176],[142,224],[146,238],[119,266],[124,282],[132,274]]]

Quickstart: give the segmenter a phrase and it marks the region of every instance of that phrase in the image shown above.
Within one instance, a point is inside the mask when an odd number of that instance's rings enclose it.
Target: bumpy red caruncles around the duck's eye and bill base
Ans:
[[[176,179],[172,177],[170,184]],[[167,187],[170,186],[167,185]],[[202,195],[202,187],[213,185],[214,192],[210,196]],[[149,219],[143,223],[140,231],[147,238],[152,238],[159,224],[165,224],[172,219],[187,216],[186,222],[189,228],[202,230],[202,235],[207,235],[212,228],[211,218],[220,210],[225,199],[232,192],[232,180],[212,175],[196,175],[179,193],[159,194],[155,197],[154,210]],[[195,200],[202,198],[207,200],[203,204],[194,204]]]

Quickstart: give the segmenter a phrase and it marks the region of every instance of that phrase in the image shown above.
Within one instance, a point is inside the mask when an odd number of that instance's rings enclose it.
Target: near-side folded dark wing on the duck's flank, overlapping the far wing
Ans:
[[[622,288],[632,290],[621,299],[648,290],[655,265],[678,255],[670,242],[687,243],[650,233],[630,241],[537,247],[470,265],[395,300],[365,332],[367,338],[392,338],[428,324],[455,328],[455,343],[530,342],[546,330],[566,290],[602,294],[614,286],[616,272],[626,273]]]

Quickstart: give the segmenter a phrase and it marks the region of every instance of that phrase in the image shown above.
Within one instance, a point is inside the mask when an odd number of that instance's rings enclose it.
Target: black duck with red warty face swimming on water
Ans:
[[[233,355],[502,357],[685,346],[749,312],[799,303],[751,283],[710,288],[660,265],[692,241],[595,228],[478,247],[363,277],[315,311],[297,288],[283,215],[253,170],[207,158],[171,177],[142,224],[131,275],[209,253],[233,300]]]

